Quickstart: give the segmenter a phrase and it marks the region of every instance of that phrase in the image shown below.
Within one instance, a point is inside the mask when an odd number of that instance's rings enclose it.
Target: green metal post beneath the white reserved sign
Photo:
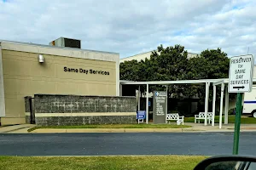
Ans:
[[[234,132],[233,155],[238,155],[238,149],[239,149],[239,134],[240,134],[240,123],[241,123],[241,100],[242,100],[242,94],[238,93],[236,97],[236,122],[235,122],[235,132]]]

